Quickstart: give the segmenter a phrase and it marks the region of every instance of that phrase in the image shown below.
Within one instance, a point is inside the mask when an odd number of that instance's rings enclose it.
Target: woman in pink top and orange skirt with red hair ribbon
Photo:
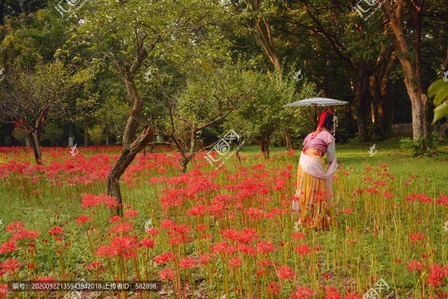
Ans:
[[[335,138],[332,136],[336,116],[332,111],[319,115],[319,125],[303,143],[297,171],[297,190],[293,211],[308,228],[327,229],[333,222],[333,176],[337,169]],[[327,153],[328,169],[324,170]]]

